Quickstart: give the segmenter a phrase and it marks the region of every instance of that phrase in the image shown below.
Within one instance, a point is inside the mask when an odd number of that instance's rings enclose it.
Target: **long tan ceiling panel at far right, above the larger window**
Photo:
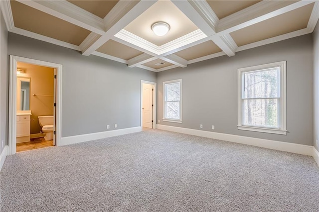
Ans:
[[[238,46],[304,29],[314,3],[230,33]]]

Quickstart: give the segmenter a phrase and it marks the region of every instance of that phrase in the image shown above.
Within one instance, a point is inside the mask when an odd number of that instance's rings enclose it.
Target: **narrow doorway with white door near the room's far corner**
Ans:
[[[141,127],[156,128],[156,83],[141,81]]]

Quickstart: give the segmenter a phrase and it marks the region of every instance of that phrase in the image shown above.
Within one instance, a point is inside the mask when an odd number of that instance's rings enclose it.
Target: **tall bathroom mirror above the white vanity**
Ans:
[[[16,78],[16,110],[30,110],[30,78]]]

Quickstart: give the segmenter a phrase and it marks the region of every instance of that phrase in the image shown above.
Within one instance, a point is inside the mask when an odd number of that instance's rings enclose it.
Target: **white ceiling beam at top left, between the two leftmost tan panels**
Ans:
[[[105,25],[102,18],[68,2],[67,0],[17,1],[97,34],[105,33]]]

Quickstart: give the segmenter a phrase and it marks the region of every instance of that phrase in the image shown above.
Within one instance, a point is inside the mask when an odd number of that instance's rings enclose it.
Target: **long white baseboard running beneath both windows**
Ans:
[[[313,146],[158,124],[158,129],[313,156]]]

